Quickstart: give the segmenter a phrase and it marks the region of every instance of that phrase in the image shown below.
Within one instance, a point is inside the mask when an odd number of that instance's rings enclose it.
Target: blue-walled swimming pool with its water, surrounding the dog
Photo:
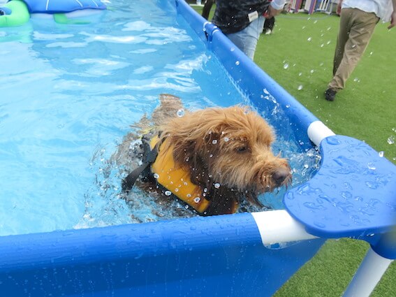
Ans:
[[[295,187],[285,203],[299,221],[296,209],[306,210],[312,219],[309,233],[325,233],[323,222],[329,217],[315,218],[323,208],[353,208],[326,196],[323,185],[319,191],[315,180],[307,181],[319,162],[322,168],[333,160],[351,167],[350,159],[337,151],[345,150],[341,146],[346,142],[351,151],[354,140],[332,138],[330,130],[211,24],[204,27],[183,1],[139,3],[109,3],[112,9],[86,18],[91,25],[64,27],[34,18],[20,29],[0,30],[0,41],[7,45],[1,48],[5,66],[0,76],[0,180],[6,181],[6,199],[0,202],[0,286],[6,296],[200,296],[208,291],[270,296],[321,246],[321,239],[298,244],[285,243],[290,238],[262,240],[256,223],[261,215],[249,213],[162,221],[164,216],[153,217],[143,205],[131,217],[117,196],[119,170],[109,160],[130,125],[154,110],[161,93],[180,96],[191,109],[249,103],[270,119],[278,133],[274,150],[291,157],[295,168]],[[322,151],[331,157],[323,160],[309,138],[316,145],[328,138]],[[371,151],[362,146],[361,152]],[[374,158],[375,166],[380,168],[381,161]],[[334,166],[329,168],[331,180]],[[388,177],[376,182],[392,184]],[[344,196],[348,187],[344,183],[340,189]],[[316,194],[323,198],[309,201]],[[283,196],[284,190],[263,199],[284,208]],[[372,212],[381,210],[381,201],[373,203],[379,209]],[[384,207],[393,207],[386,203]],[[189,210],[184,214],[191,216]],[[368,224],[358,219],[366,218],[360,214],[352,224]],[[381,231],[388,226],[386,219]],[[108,227],[85,229],[98,226]],[[360,236],[371,239],[373,230],[362,229]],[[272,249],[263,248],[262,241]]]

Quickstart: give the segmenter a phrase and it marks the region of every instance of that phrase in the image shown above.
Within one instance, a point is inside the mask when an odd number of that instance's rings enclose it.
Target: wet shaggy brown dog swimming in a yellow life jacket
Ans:
[[[145,175],[161,184],[166,196],[172,191],[200,214],[219,215],[235,212],[242,198],[261,205],[258,194],[291,182],[288,162],[272,153],[271,127],[253,110],[232,106],[182,112],[177,97],[161,94],[160,99],[152,122],[143,119],[138,127],[140,133],[149,126],[161,131],[149,141],[155,156]],[[134,137],[126,137],[119,154]],[[129,178],[126,191],[133,186]]]

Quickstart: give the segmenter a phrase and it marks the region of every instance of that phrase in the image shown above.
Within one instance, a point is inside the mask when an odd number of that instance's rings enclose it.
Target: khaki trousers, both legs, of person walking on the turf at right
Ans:
[[[365,52],[379,17],[357,8],[343,8],[339,21],[330,89],[344,89],[353,69]]]

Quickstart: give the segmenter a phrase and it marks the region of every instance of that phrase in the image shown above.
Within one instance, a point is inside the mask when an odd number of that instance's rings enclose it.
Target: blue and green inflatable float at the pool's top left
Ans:
[[[78,23],[68,21],[66,13],[76,10],[104,10],[106,6],[100,0],[11,0],[0,7],[0,27],[15,27],[27,22],[33,13],[45,13],[54,16],[59,23]]]

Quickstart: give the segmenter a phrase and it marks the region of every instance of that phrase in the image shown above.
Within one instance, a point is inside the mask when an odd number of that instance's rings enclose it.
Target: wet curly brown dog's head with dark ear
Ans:
[[[219,184],[245,193],[272,191],[291,182],[286,159],[274,156],[274,133],[247,107],[207,108],[163,127],[175,164],[203,187]]]

